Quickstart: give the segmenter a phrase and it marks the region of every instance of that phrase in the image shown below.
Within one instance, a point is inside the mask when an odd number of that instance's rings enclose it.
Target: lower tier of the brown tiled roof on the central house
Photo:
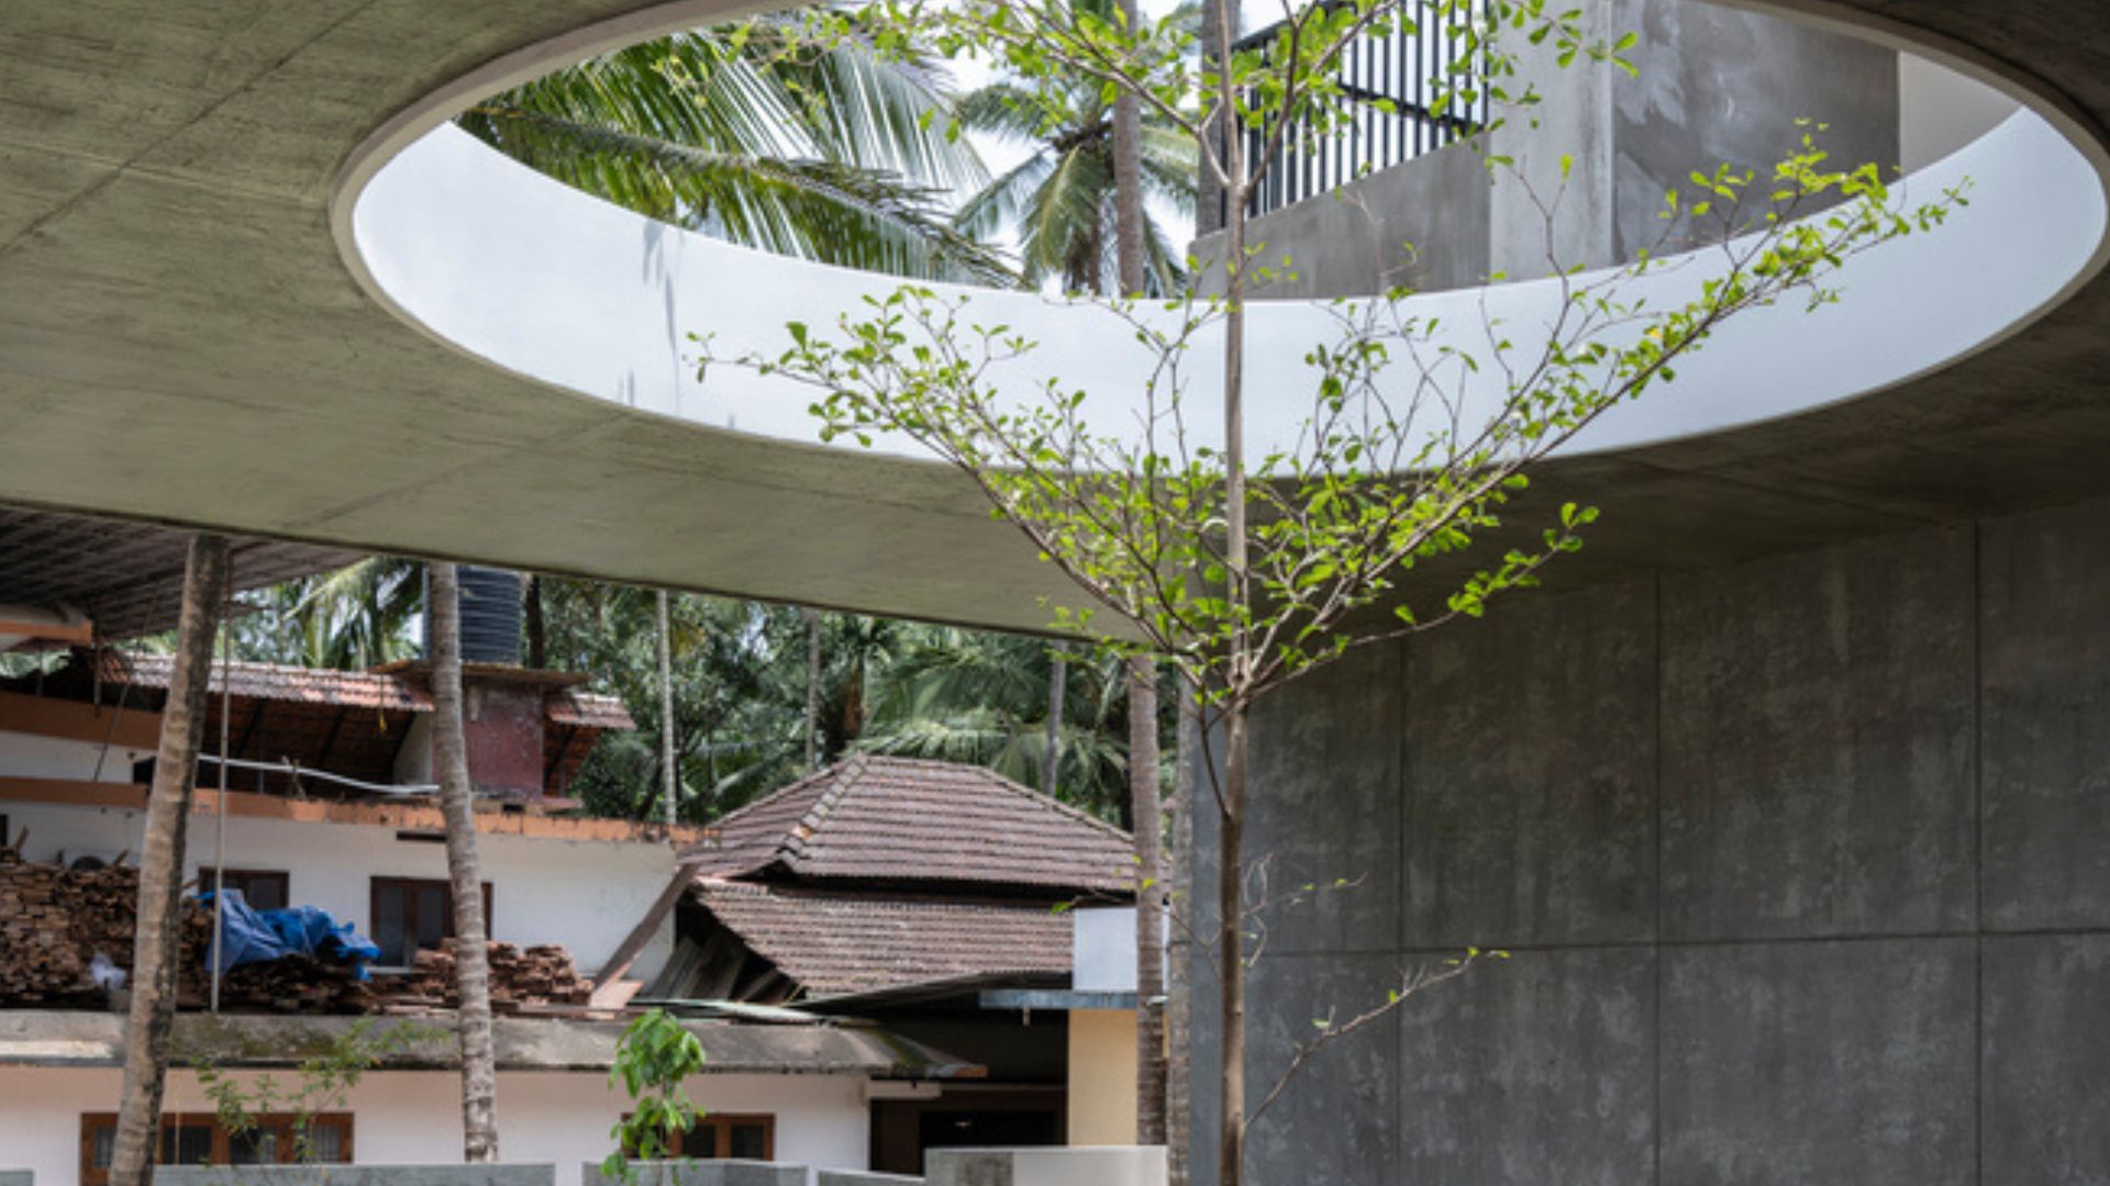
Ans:
[[[1070,916],[1047,903],[876,899],[715,878],[692,893],[806,996],[1070,973]]]

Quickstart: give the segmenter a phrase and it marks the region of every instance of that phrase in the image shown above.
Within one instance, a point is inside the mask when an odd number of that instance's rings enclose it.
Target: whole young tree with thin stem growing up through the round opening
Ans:
[[[1057,0],[890,0],[861,15],[859,27],[880,30],[882,44],[996,53],[1025,76],[1082,76],[1131,91],[1201,139],[1203,167],[1224,192],[1226,247],[1215,264],[1224,295],[1173,308],[1110,306],[1152,357],[1125,409],[1133,424],[1089,422],[1089,393],[1017,367],[1030,340],[977,323],[968,298],[928,287],[876,298],[831,331],[791,325],[787,350],[741,361],[812,388],[827,439],[907,437],[958,466],[1078,587],[1078,604],[1055,606],[1057,627],[1158,654],[1198,690],[1203,724],[1222,745],[1220,760],[1203,749],[1220,853],[1215,935],[1205,952],[1220,979],[1224,1036],[1222,1182],[1234,1186],[1251,1121],[1312,1051],[1477,956],[1403,969],[1388,1000],[1346,1021],[1317,1017],[1317,1036],[1291,1057],[1289,1074],[1247,1110],[1245,977],[1266,948],[1268,907],[1279,905],[1264,891],[1249,901],[1266,878],[1266,861],[1249,861],[1243,842],[1253,705],[1353,646],[1479,616],[1494,597],[1534,585],[1547,563],[1580,547],[1595,511],[1526,506],[1538,530],[1504,532],[1528,471],[1608,409],[1669,382],[1680,359],[1730,319],[1783,298],[1810,308],[1834,300],[1825,281],[1844,260],[1937,224],[1960,196],[1905,209],[1874,165],[1829,169],[1815,133],[1802,131],[1766,177],[1720,167],[1669,194],[1667,213],[1677,217],[1667,226],[1684,232],[1684,215],[1705,219],[1705,251],[1595,274],[1555,257],[1557,302],[1542,331],[1439,325],[1407,291],[1336,304],[1331,338],[1302,344],[1310,367],[1302,431],[1249,456],[1247,300],[1274,272],[1247,243],[1247,203],[1287,129],[1350,127],[1357,97],[1338,76],[1344,49],[1395,30],[1443,30],[1456,44],[1441,55],[1450,65],[1426,82],[1431,114],[1485,97],[1528,118],[1536,91],[1519,78],[1517,46],[1547,46],[1564,65],[1620,63],[1633,38],[1597,38],[1580,13],[1555,13],[1542,0],[1293,6],[1264,44],[1239,46],[1228,21],[1217,21],[1198,61],[1177,36],[1129,30]],[[1203,139],[1211,118],[1230,135]],[[1538,207],[1555,255],[1568,165],[1545,192],[1490,148],[1507,118],[1477,129],[1475,146],[1500,184]],[[1239,131],[1255,133],[1255,152],[1247,154]],[[1819,207],[1829,209],[1812,215]],[[1703,224],[1690,228],[1699,234]],[[1690,272],[1644,285],[1658,268]],[[1182,405],[1182,365],[1194,350],[1222,350],[1220,439],[1196,437]],[[1412,589],[1403,587],[1409,572]],[[1118,633],[1142,644],[1106,642],[1116,631],[1101,631],[1095,614],[1114,614]]]

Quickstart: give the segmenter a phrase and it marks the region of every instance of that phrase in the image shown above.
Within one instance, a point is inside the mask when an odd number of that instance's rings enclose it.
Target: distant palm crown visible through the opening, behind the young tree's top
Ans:
[[[1015,230],[1023,279],[1032,287],[1059,281],[1066,291],[1118,291],[1114,106],[1099,84],[1078,80],[1055,89],[1000,80],[964,95],[958,116],[971,131],[1030,144],[1032,154],[968,198],[954,222],[983,238]],[[1137,125],[1139,196],[1192,213],[1201,167],[1194,141],[1154,112],[1142,114]],[[1139,236],[1144,291],[1179,291],[1184,247],[1148,213]]]

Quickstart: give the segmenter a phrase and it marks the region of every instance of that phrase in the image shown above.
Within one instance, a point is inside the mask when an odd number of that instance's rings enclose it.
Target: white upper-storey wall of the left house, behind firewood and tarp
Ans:
[[[0,766],[13,772],[11,766]],[[59,853],[139,853],[143,812],[0,800],[11,829],[30,829],[23,857]],[[215,859],[217,821],[192,817],[184,876]],[[492,937],[506,943],[563,943],[582,975],[593,975],[644,918],[673,878],[673,848],[525,836],[477,838],[492,882]],[[445,878],[443,844],[397,840],[395,829],[344,823],[293,823],[228,817],[230,869],[285,869],[295,905],[321,905],[371,931],[371,878]],[[673,950],[669,916],[631,969],[650,979]],[[6,1072],[0,1072],[6,1074]],[[4,1148],[4,1146],[0,1146]]]

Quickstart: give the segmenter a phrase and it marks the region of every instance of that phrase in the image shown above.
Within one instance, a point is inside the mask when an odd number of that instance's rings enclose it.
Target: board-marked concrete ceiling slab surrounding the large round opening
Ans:
[[[2095,0],[1821,11],[1975,53],[2074,127],[2110,116]],[[422,336],[346,270],[329,198],[399,112],[492,61],[530,70],[532,46],[595,21],[711,15],[625,0],[0,8],[0,502],[1042,627],[1059,578],[964,479],[532,384]],[[1931,300],[1969,300],[1967,268]],[[1629,568],[2097,494],[2106,325],[2095,279],[1905,388],[1564,462],[1540,487],[1608,506],[1593,563]]]

